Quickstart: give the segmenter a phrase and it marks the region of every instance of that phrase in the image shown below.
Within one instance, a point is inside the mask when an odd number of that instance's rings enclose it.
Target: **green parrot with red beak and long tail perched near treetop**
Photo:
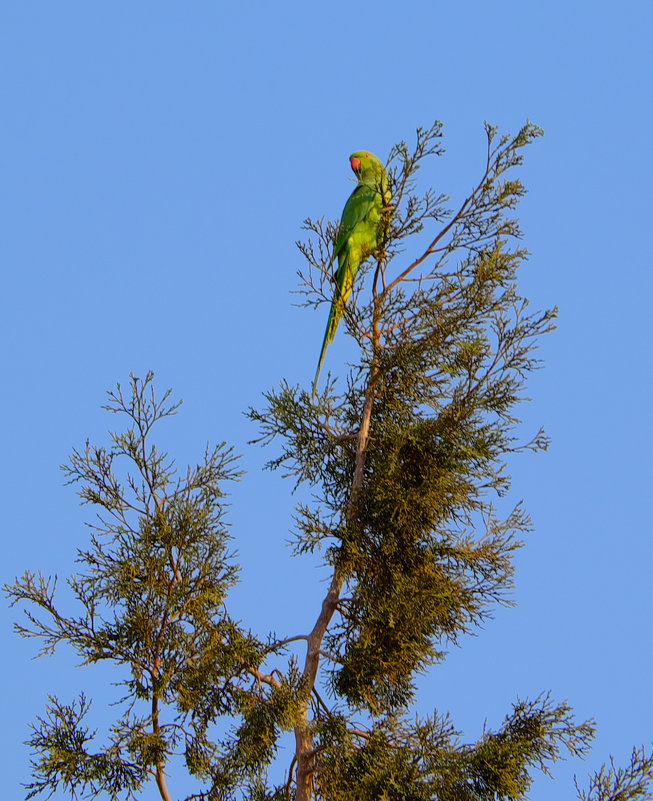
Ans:
[[[378,247],[379,212],[390,200],[388,176],[376,156],[367,150],[357,150],[349,157],[349,163],[358,178],[358,184],[342,210],[336,244],[329,262],[330,268],[336,256],[338,257],[336,291],[313,379],[313,398],[327,345],[333,342],[336,335],[336,328],[354,285],[356,270]]]

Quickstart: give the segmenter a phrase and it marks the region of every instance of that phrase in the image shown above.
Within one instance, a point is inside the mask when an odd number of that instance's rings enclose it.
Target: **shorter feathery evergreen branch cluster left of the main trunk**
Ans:
[[[237,578],[222,490],[239,476],[232,451],[207,448],[179,477],[151,443],[152,428],[178,406],[169,393],[155,397],[151,374],[132,376],[129,392],[118,385],[105,407],[127,419],[126,430],[112,433],[108,448],[74,450],[63,468],[82,502],[98,510],[90,547],[78,552],[68,580],[81,614],[59,610],[55,579],[27,572],[5,588],[13,603],[31,605],[16,629],[39,638],[40,653],[67,643],[83,664],[108,660],[124,671],[123,713],[105,746],[84,723],[83,695],[71,704],[50,699],[28,741],[36,755],[28,797],[61,786],[89,798],[135,798],[152,776],[164,781],[177,753],[192,776],[229,792],[269,761],[278,727],[291,725],[297,677],[291,687],[281,673],[272,680],[259,671],[266,646],[225,607]],[[233,744],[211,739],[223,716],[244,721],[237,760]]]

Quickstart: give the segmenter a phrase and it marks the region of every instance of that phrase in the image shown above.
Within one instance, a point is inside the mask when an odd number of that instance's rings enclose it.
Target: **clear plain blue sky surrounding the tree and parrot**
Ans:
[[[0,579],[71,572],[91,512],[58,466],[105,441],[105,390],[153,369],[184,399],[162,429],[180,465],[207,439],[243,454],[233,613],[260,634],[306,631],[324,574],[290,558],[290,483],[261,471],[271,453],[247,445],[242,415],[313,376],[326,309],[292,305],[301,222],[340,214],[349,153],[385,157],[434,118],[447,153],[423,180],[455,202],[479,175],[483,120],[514,132],[528,117],[546,136],[521,170],[521,287],[560,320],[524,430],[553,442],[511,464],[535,526],[517,607],[420,679],[417,708],[450,711],[469,740],[542,691],[595,717],[591,756],[539,778],[534,801],[574,797],[574,772],[650,743],[652,21],[643,0],[0,4]],[[19,798],[46,694],[85,689],[101,725],[118,677],[63,651],[30,661],[0,614],[3,785]]]

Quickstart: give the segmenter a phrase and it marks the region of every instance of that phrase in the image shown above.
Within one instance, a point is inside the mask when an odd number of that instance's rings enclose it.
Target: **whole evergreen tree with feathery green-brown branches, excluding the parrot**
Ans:
[[[278,449],[269,467],[314,498],[297,506],[295,552],[320,552],[331,581],[308,635],[261,640],[228,614],[232,451],[207,449],[180,477],[152,443],[152,428],[177,411],[169,393],[156,397],[151,374],[109,393],[105,408],[126,429],[109,447],[73,451],[64,468],[98,511],[69,579],[79,616],[60,612],[55,581],[41,575],[5,590],[27,602],[17,629],[41,653],[68,643],[84,664],[123,670],[122,711],[99,746],[84,695],[50,698],[28,741],[28,798],[137,798],[154,779],[170,799],[182,755],[203,788],[186,801],[523,799],[534,770],[586,753],[592,722],[547,695],[515,701],[475,742],[446,715],[409,714],[416,674],[510,603],[529,520],[520,504],[501,516],[494,503],[509,490],[506,458],[547,445],[542,431],[520,441],[516,416],[555,317],[531,311],[517,288],[527,253],[513,212],[525,190],[513,173],[541,130],[486,133],[479,180],[454,210],[418,191],[422,163],[443,152],[439,123],[392,150],[379,246],[343,316],[357,360],[316,399],[282,382],[249,411],[258,441]],[[330,303],[337,229],[305,226],[300,291],[308,306]],[[287,655],[291,643],[305,647],[303,665]],[[294,731],[295,751],[274,785],[283,731]],[[629,768],[603,768],[578,797],[652,798],[652,772],[653,757],[635,751]]]

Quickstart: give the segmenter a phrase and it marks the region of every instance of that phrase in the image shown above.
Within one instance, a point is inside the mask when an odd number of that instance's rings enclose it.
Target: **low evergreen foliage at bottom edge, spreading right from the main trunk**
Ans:
[[[592,727],[574,724],[566,704],[547,697],[515,704],[497,732],[462,743],[447,717],[408,723],[388,716],[370,729],[351,730],[346,720],[320,729],[323,748],[320,798],[360,801],[493,801],[524,798],[528,768],[546,770],[561,748],[587,751]]]

